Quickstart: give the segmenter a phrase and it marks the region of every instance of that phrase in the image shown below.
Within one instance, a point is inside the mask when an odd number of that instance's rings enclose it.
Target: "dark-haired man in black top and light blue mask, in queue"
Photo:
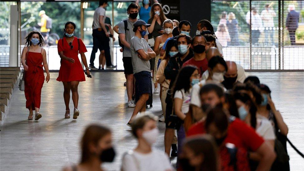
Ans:
[[[174,136],[174,127],[172,124],[170,124],[168,118],[172,113],[173,109],[173,103],[172,103],[172,93],[173,91],[171,88],[173,87],[173,83],[175,81],[175,78],[178,74],[179,69],[183,66],[183,63],[193,57],[193,52],[190,50],[191,47],[191,37],[187,35],[180,35],[177,38],[177,44],[178,44],[178,54],[170,57],[169,62],[164,70],[165,78],[170,81],[169,89],[167,91],[167,98],[166,98],[166,117],[165,117],[165,123],[166,123],[166,131],[165,131],[165,153],[170,155],[170,146],[173,141]]]

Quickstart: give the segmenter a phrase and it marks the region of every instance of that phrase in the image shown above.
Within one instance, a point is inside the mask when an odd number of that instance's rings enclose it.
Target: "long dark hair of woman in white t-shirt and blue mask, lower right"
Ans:
[[[255,129],[256,128],[256,112],[257,108],[252,102],[252,99],[247,93],[236,92],[233,94],[235,100],[240,100],[243,103],[246,103],[250,107],[250,125]]]

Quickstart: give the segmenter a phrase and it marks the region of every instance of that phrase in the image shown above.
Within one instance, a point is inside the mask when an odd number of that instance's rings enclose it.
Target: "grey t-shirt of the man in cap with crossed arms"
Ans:
[[[132,37],[130,41],[130,49],[132,56],[133,74],[139,73],[141,71],[151,72],[149,60],[140,59],[137,56],[137,50],[143,49],[145,52],[148,52],[148,48],[151,49],[148,42],[144,38],[138,38],[137,36]]]

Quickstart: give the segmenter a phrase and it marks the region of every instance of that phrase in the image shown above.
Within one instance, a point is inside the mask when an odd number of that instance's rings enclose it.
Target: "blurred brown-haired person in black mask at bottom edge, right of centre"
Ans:
[[[187,138],[179,161],[180,167],[185,171],[220,170],[217,147],[210,135]]]

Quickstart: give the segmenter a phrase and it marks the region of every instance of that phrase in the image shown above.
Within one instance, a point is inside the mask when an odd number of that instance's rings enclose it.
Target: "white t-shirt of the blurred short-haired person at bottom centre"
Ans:
[[[129,151],[122,157],[122,171],[173,171],[169,157],[159,150],[149,154]]]

